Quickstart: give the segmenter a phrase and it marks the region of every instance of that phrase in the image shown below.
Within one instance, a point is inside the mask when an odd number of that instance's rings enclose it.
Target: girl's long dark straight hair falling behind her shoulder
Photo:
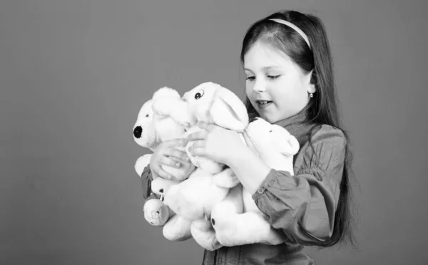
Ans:
[[[269,19],[282,19],[295,24],[305,32],[310,46],[294,29]],[[302,14],[297,11],[280,11],[267,16],[265,19],[261,19],[250,26],[245,34],[240,54],[242,64],[244,64],[245,54],[258,41],[287,54],[295,64],[300,66],[300,69],[305,74],[312,71],[311,83],[315,84],[316,92],[305,110],[307,111],[307,122],[315,125],[309,131],[309,136],[312,136],[313,131],[322,124],[334,126],[342,130],[345,135],[347,140],[345,166],[343,168],[342,181],[340,182],[340,196],[335,212],[335,226],[332,236],[319,244],[319,246],[333,246],[346,241],[355,246],[355,239],[350,225],[352,220],[350,211],[352,199],[350,189],[350,173],[352,169],[350,165],[352,154],[350,152],[349,136],[342,129],[337,111],[332,56],[325,27],[316,16]],[[250,118],[258,116],[247,96],[245,97],[245,106],[247,106]],[[311,140],[309,141],[312,146]]]

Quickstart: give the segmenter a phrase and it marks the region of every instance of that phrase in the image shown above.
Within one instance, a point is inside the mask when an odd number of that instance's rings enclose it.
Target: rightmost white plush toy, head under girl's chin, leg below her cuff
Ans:
[[[286,129],[264,119],[250,121],[243,134],[245,143],[272,169],[293,174],[292,159],[299,142]],[[263,243],[281,244],[285,235],[270,226],[265,214],[245,188],[236,187],[213,206],[211,222],[223,246]]]

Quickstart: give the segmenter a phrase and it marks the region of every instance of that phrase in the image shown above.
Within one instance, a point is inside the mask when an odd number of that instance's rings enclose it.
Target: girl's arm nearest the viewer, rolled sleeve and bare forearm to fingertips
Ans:
[[[193,155],[227,164],[245,189],[253,193],[260,211],[273,228],[290,242],[316,245],[332,235],[340,181],[345,162],[345,136],[339,129],[322,126],[309,143],[300,147],[295,176],[270,169],[240,140],[235,131],[201,124],[188,137],[195,141]]]

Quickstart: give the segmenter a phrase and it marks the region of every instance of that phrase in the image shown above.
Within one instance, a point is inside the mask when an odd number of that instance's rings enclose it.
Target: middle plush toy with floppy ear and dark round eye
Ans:
[[[172,110],[168,106],[175,106]],[[227,129],[243,131],[248,125],[248,114],[243,102],[232,91],[211,82],[200,84],[184,94],[180,101],[159,99],[153,102],[155,113],[170,116],[178,124],[188,128],[186,134],[197,131],[198,121],[205,121]],[[186,150],[192,145],[189,142]],[[239,181],[230,168],[203,157],[190,161],[197,169],[188,179],[171,186],[165,194],[165,203],[184,219],[193,221],[192,236],[205,249],[218,249],[210,224],[211,209],[222,201]]]

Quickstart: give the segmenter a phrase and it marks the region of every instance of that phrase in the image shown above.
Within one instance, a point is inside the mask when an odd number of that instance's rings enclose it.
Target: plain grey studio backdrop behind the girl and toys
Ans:
[[[317,264],[428,264],[427,1],[0,3],[0,264],[200,264],[143,219],[143,102],[215,81],[243,96],[248,26],[320,16],[354,151],[358,250]]]

